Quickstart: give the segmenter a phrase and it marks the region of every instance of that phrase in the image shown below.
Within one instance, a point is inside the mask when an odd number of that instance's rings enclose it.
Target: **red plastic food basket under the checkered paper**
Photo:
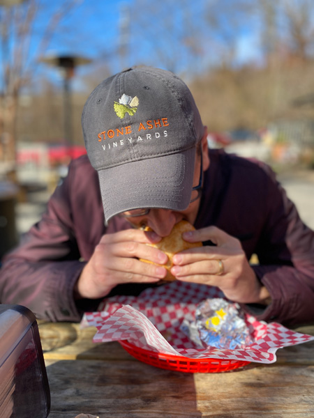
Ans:
[[[160,369],[184,371],[185,373],[220,373],[239,369],[239,367],[250,363],[230,359],[190,359],[179,355],[167,355],[144,350],[144,348],[134,346],[126,340],[119,341],[119,343],[124,350],[141,362]]]

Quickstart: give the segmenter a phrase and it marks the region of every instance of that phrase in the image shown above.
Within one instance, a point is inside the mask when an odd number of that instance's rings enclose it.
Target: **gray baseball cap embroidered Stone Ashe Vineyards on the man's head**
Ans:
[[[129,68],[105,79],[82,113],[105,219],[125,210],[184,210],[204,126],[190,90],[170,71]]]

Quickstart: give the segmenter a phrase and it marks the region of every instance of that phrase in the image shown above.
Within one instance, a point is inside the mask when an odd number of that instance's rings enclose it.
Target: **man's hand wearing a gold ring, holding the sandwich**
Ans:
[[[190,242],[211,240],[216,247],[198,247],[176,254],[171,272],[178,280],[218,286],[234,302],[265,303],[269,298],[237,238],[216,226],[184,233],[183,238]]]

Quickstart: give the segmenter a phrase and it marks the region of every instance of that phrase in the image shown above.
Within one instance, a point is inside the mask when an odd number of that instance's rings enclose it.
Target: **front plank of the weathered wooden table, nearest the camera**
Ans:
[[[47,360],[50,418],[314,416],[314,366],[180,373],[141,362]]]

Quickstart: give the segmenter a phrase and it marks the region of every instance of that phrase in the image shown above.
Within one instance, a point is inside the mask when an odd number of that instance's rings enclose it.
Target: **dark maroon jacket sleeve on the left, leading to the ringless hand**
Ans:
[[[70,187],[68,178],[57,187],[40,222],[3,258],[0,270],[1,303],[22,304],[50,321],[81,318],[73,286],[85,263],[75,238]]]

